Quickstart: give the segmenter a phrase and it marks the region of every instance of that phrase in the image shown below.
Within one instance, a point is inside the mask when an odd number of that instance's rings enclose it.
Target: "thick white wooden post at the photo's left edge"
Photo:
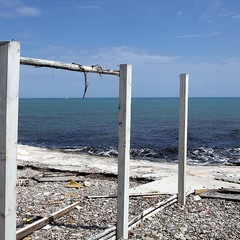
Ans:
[[[16,239],[20,44],[0,42],[0,239]]]

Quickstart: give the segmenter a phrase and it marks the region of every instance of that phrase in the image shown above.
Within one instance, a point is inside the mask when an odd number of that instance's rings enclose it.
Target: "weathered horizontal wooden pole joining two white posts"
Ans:
[[[50,61],[45,59],[37,59],[37,58],[29,58],[29,57],[20,57],[20,64],[22,65],[30,65],[35,67],[48,67],[48,68],[57,68],[69,71],[77,71],[77,72],[90,72],[90,73],[98,73],[98,74],[108,74],[108,75],[120,75],[119,70],[105,69],[99,65],[94,66],[83,66],[77,63],[64,63],[58,61]]]

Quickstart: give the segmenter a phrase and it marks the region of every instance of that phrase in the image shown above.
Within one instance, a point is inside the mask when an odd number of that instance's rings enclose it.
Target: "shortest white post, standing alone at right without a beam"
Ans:
[[[188,123],[188,74],[180,74],[180,116],[179,116],[179,162],[178,162],[178,202],[186,203],[186,162]]]

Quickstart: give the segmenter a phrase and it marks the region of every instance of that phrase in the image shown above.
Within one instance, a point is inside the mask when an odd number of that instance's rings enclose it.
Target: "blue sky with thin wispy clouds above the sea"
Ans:
[[[133,97],[240,97],[239,0],[0,0],[0,41],[21,56],[133,67]],[[118,97],[117,76],[88,74],[86,97]],[[84,76],[20,68],[20,97],[82,97]]]

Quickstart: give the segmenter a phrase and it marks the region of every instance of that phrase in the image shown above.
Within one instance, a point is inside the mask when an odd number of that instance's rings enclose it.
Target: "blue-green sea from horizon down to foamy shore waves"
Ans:
[[[133,98],[131,158],[178,161],[179,98]],[[20,99],[18,143],[118,155],[118,98]],[[240,98],[189,98],[188,163],[240,165]]]

